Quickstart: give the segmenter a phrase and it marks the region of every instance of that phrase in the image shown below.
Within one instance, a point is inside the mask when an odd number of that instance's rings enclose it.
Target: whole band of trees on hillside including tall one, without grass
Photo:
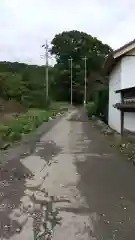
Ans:
[[[50,53],[56,58],[56,64],[54,67],[49,66],[49,98],[54,101],[70,101],[69,58],[72,58],[73,102],[83,103],[83,59],[86,57],[87,101],[95,98],[97,101],[97,92],[107,89],[108,81],[102,67],[105,57],[111,51],[107,44],[84,32],[73,30],[57,34],[51,42],[50,49]],[[45,66],[0,62],[0,98],[5,101],[14,100],[28,108],[46,108],[48,103],[45,97],[45,83]],[[103,104],[100,102],[100,105]],[[100,107],[98,111],[101,110]]]

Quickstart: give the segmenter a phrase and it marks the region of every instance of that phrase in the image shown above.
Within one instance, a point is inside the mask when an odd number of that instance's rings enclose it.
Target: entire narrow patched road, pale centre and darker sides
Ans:
[[[135,239],[135,168],[83,110],[0,171],[0,239]]]

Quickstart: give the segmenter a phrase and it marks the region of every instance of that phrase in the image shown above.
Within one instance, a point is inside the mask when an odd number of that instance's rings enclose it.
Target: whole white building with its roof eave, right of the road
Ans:
[[[135,40],[114,51],[105,63],[109,74],[109,126],[135,132]]]

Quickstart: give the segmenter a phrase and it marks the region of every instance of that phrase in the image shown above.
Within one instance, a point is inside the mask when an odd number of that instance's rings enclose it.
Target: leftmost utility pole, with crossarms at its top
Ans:
[[[42,47],[45,49],[45,80],[46,80],[46,100],[48,100],[48,42],[46,40],[46,43],[42,45]]]

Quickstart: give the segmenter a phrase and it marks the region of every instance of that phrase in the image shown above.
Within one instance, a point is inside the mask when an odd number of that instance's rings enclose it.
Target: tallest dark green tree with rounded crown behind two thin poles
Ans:
[[[57,34],[52,40],[51,54],[56,56],[57,76],[55,87],[57,85],[63,89],[66,99],[70,98],[70,70],[69,57],[73,59],[73,101],[83,100],[84,95],[84,61],[87,57],[87,77],[91,72],[101,72],[105,56],[112,49],[103,44],[97,38],[91,35],[79,32],[69,31]],[[68,90],[67,90],[68,89]]]

